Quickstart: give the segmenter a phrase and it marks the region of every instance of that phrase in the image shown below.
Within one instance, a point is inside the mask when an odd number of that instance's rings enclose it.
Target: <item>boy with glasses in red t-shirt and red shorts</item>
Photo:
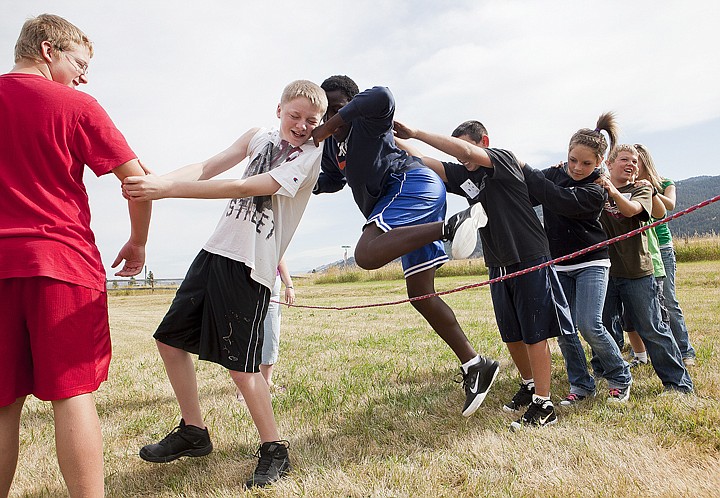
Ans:
[[[93,391],[107,379],[105,271],[82,182],[85,165],[121,181],[142,175],[135,154],[91,96],[93,47],[65,19],[22,27],[15,66],[0,76],[0,496],[10,490],[20,414],[33,394],[50,401],[58,463],[71,496],[102,496],[102,435]],[[131,233],[113,267],[145,264],[150,202],[128,205]]]

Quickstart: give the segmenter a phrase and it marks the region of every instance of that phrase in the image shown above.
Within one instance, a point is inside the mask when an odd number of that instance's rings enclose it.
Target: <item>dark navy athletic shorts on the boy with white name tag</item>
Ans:
[[[546,261],[548,258],[540,258],[488,271],[494,279]],[[535,344],[575,333],[570,307],[554,266],[490,284],[490,296],[503,342]]]

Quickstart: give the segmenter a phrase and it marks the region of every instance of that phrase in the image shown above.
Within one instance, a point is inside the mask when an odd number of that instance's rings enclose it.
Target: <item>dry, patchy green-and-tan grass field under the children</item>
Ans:
[[[482,281],[442,277],[438,290]],[[296,279],[299,304],[345,306],[402,299],[401,280],[315,284]],[[487,287],[446,296],[475,347],[501,362],[478,412],[460,415],[457,362],[408,304],[352,311],[283,310],[274,398],[295,471],[249,496],[718,496],[720,489],[720,263],[683,263],[680,302],[698,352],[697,395],[658,396],[651,367],[635,372],[629,403],[605,396],[559,408],[559,423],[508,431],[501,410],[517,372],[500,342]],[[179,410],[151,335],[171,292],[111,295],[114,358],[97,393],[105,474],[113,497],[243,496],[258,439],[227,373],[198,363],[201,404],[215,451],[150,464],[138,449],[163,437]],[[567,393],[553,348],[553,398]],[[601,381],[601,394],[606,384]],[[55,461],[52,412],[25,406],[12,496],[64,496]]]

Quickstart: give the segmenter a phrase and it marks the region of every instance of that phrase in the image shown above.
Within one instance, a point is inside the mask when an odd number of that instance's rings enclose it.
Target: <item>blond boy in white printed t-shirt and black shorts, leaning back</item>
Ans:
[[[277,108],[279,130],[253,128],[207,161],[123,182],[131,200],[231,199],[155,332],[182,419],[159,443],[140,450],[144,460],[165,463],[212,451],[192,353],[230,371],[258,429],[259,462],[247,486],[271,484],[290,470],[289,444],[280,440],[268,384],[259,372],[262,323],[278,261],[320,172],[322,147],[310,138],[326,108],[319,86],[294,81]],[[250,162],[242,179],[211,180],[246,157]]]

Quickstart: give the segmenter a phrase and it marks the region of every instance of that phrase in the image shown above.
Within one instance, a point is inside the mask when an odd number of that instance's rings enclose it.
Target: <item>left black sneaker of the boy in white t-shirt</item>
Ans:
[[[168,463],[181,456],[205,456],[212,451],[212,442],[207,428],[201,429],[194,425],[180,425],[156,444],[148,444],[140,449],[140,458],[148,462]]]

